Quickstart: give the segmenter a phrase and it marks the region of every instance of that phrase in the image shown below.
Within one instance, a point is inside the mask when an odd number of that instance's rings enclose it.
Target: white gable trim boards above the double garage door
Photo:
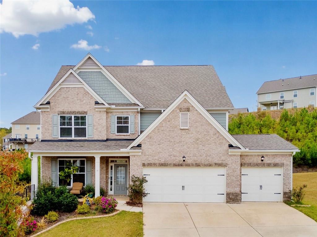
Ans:
[[[216,128],[218,132],[220,132],[224,136],[224,138],[230,142],[230,144],[232,144],[235,147],[239,147],[241,150],[245,150],[245,148],[225,128],[223,128],[223,126],[221,126],[220,123],[218,123],[216,119],[214,119],[210,115],[210,113],[206,109],[204,109],[204,107],[201,106],[187,90],[185,90],[173,103],[171,103],[171,105],[156,120],[154,120],[154,122],[152,122],[152,124],[148,128],[146,128],[146,130],[141,135],[139,135],[139,137],[137,137],[137,139],[135,139],[127,149],[130,149],[131,147],[135,147],[136,145],[138,145],[184,99],[191,103],[191,105],[194,106],[195,109],[197,109],[198,112],[200,112],[200,114],[203,115],[204,118],[207,119],[207,121],[210,122],[211,125],[213,125],[214,128]]]

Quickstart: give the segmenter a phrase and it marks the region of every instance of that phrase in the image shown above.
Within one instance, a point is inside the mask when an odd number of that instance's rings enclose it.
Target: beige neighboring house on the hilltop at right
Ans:
[[[262,110],[316,106],[317,74],[266,81],[256,94]]]

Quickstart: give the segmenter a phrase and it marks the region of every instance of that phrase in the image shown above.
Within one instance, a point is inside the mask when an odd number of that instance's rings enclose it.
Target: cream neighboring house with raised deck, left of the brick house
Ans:
[[[41,140],[41,113],[32,111],[12,122],[12,150],[28,149],[34,142]]]

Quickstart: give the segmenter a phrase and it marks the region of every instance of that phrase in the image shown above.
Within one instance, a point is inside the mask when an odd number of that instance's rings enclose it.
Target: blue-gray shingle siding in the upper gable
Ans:
[[[77,74],[107,103],[132,103],[102,72]]]

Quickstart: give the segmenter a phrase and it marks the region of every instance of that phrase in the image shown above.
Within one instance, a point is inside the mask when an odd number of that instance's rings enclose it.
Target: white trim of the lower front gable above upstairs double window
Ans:
[[[63,80],[65,78],[67,78],[67,76],[73,73],[75,75],[75,77],[81,81],[81,84],[72,84],[72,85],[61,85],[61,83],[63,82]],[[51,90],[49,90],[49,92],[47,92],[45,94],[44,97],[42,97],[42,99],[36,103],[35,107],[39,106],[40,104],[45,104],[46,102],[49,101],[49,99],[61,88],[61,87],[84,87],[89,94],[92,95],[92,97],[94,97],[94,99],[96,99],[99,103],[103,103],[107,106],[109,106],[106,101],[104,101],[83,79],[80,78],[80,76],[77,75],[76,72],[74,72],[73,69],[69,69],[69,71],[53,86],[53,88]],[[109,106],[110,107],[110,106]]]

